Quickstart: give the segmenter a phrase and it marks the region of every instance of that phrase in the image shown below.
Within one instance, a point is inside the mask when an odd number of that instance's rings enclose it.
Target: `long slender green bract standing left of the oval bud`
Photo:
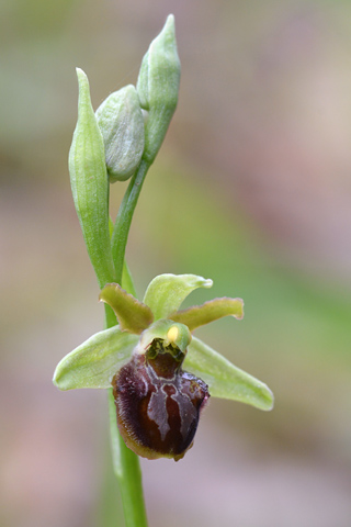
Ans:
[[[87,250],[100,288],[113,282],[109,232],[109,180],[104,145],[97,123],[86,74],[77,68],[78,122],[69,150],[70,184]]]

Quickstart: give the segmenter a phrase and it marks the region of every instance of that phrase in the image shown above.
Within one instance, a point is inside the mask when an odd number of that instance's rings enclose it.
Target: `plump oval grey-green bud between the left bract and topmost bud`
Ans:
[[[144,117],[134,86],[111,93],[98,108],[97,121],[105,147],[110,182],[125,181],[135,172],[144,150]]]

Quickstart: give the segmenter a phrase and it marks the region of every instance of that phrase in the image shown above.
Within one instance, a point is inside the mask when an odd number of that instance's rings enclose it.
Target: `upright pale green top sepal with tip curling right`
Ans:
[[[212,284],[212,280],[195,274],[159,274],[149,283],[143,302],[152,311],[155,321],[168,318],[192,291]]]

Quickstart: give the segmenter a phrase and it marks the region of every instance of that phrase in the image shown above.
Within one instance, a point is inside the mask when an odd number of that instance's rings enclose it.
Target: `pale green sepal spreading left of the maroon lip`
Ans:
[[[136,335],[117,326],[97,333],[57,365],[54,384],[60,390],[111,388],[112,378],[131,360],[137,341]]]

